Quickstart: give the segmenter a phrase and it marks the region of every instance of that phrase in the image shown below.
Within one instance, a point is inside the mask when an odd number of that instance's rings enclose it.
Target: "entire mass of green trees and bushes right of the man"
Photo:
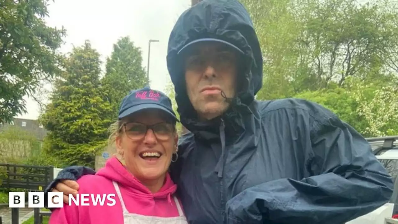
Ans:
[[[398,134],[394,0],[241,0],[264,55],[257,99],[317,102],[364,136]]]

